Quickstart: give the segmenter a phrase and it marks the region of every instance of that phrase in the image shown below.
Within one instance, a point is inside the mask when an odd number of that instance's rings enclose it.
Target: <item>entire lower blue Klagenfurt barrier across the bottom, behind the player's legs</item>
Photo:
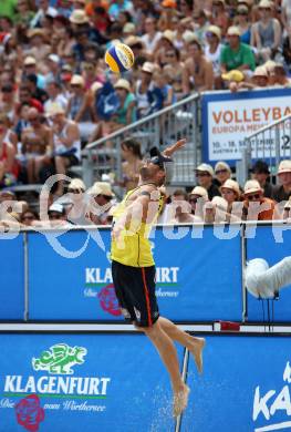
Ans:
[[[290,336],[206,340],[202,376],[189,358],[179,430],[289,430]],[[175,431],[168,374],[146,337],[1,333],[0,343],[0,432]]]

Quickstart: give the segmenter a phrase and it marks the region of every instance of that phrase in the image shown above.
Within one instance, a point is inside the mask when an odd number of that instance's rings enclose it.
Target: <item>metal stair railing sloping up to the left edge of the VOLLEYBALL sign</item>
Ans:
[[[163,147],[181,137],[186,147],[175,158],[172,184],[187,186],[195,184],[194,168],[201,161],[199,94],[195,93],[172,106],[150,114],[101,140],[86,145],[83,151],[82,175],[87,186],[101,179],[103,174],[114,173],[122,178],[121,144],[131,136],[141,142],[142,153],[152,146]]]

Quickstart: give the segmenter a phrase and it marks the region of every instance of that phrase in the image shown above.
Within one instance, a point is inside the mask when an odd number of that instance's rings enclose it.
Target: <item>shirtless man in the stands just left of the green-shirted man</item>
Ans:
[[[212,63],[204,55],[202,48],[196,37],[187,41],[188,58],[185,61],[183,73],[183,92],[189,94],[191,91],[204,92],[214,89]]]

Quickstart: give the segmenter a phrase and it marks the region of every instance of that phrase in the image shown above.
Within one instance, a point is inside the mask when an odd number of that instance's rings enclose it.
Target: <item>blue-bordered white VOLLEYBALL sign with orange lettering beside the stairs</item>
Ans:
[[[204,162],[227,161],[235,166],[241,158],[246,136],[291,113],[290,95],[291,89],[271,88],[205,93],[201,97]],[[252,157],[274,158],[278,133],[280,155],[290,158],[289,125],[268,134],[268,143],[254,140]]]

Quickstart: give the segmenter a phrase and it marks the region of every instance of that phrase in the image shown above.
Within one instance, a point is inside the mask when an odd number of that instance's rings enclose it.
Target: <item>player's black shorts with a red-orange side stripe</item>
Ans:
[[[150,327],[159,317],[156,300],[156,268],[131,267],[112,261],[115,294],[126,320]]]

